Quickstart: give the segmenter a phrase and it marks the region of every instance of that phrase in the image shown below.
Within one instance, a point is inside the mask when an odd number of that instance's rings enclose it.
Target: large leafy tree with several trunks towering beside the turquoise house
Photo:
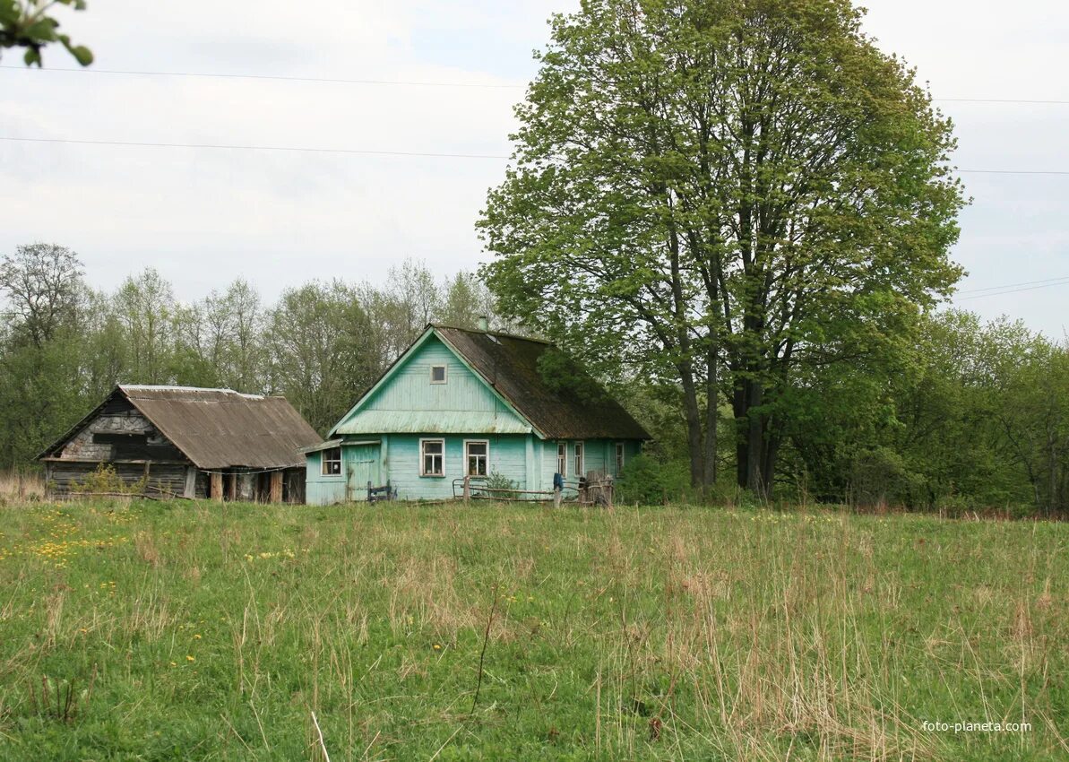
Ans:
[[[960,276],[949,121],[849,0],[584,0],[480,227],[501,307],[680,390],[692,481],[766,492],[801,378],[892,352]]]

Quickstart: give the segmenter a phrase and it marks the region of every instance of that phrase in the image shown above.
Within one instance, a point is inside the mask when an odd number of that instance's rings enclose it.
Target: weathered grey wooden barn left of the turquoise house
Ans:
[[[38,459],[56,496],[107,464],[146,494],[303,503],[298,449],[321,441],[283,397],[123,384]]]

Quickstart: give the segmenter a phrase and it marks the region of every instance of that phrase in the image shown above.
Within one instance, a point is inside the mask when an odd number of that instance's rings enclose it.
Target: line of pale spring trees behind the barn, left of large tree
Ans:
[[[428,322],[492,316],[470,273],[406,261],[385,284],[312,281],[266,304],[237,279],[187,303],[153,269],[89,288],[71,249],[0,258],[0,469],[30,462],[117,382],[281,394],[321,433]]]

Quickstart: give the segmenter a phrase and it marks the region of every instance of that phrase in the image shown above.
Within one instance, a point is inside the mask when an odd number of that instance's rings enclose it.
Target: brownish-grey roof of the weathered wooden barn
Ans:
[[[200,469],[304,466],[297,449],[323,439],[284,397],[238,394],[229,388],[120,385],[122,395]],[[107,400],[105,400],[105,403]],[[103,405],[45,455],[88,425]]]

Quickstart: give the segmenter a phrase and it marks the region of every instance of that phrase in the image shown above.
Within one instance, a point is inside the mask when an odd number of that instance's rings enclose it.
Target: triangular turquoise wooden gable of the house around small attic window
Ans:
[[[446,366],[446,383],[431,383],[431,367]],[[431,336],[397,368],[335,435],[527,433],[516,415],[437,336]]]

